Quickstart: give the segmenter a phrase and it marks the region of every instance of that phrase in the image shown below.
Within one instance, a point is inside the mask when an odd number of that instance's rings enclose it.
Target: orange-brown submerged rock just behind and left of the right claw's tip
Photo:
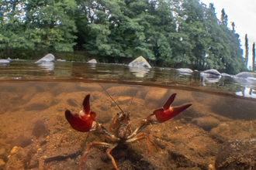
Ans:
[[[145,97],[145,106],[149,109],[157,109],[168,100],[168,89],[151,88]]]

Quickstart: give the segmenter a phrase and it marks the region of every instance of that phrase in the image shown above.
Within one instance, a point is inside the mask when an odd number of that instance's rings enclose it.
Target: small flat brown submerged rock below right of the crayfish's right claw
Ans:
[[[199,117],[192,119],[192,123],[205,131],[210,131],[212,128],[216,128],[220,121],[214,117]]]

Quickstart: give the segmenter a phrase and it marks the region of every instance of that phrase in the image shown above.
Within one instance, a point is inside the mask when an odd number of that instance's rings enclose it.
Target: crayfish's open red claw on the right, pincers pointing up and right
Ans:
[[[177,116],[178,114],[182,113],[182,111],[186,110],[192,104],[184,104],[178,107],[171,107],[171,103],[175,100],[175,96],[177,93],[173,93],[171,97],[167,100],[164,104],[163,108],[154,110],[154,115],[157,117],[157,121],[162,123],[164,121],[168,121],[172,117]]]

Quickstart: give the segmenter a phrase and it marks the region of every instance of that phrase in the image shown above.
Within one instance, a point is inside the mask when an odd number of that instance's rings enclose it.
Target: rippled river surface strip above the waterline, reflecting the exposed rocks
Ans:
[[[223,74],[225,75],[225,74]],[[133,83],[148,86],[202,90],[236,95],[244,87],[256,90],[254,77],[214,76],[189,69],[129,67],[123,64],[61,62],[34,63],[12,60],[0,65],[0,80],[65,80]],[[240,96],[240,95],[239,95]],[[247,95],[243,95],[247,97]],[[254,98],[254,95],[250,97]]]

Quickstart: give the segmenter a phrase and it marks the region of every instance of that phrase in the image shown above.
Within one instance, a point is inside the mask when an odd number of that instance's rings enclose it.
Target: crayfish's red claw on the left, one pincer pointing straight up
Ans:
[[[89,98],[90,94],[87,94],[83,101],[84,108],[78,114],[72,114],[68,109],[65,111],[66,119],[74,130],[87,132],[92,128],[96,114],[90,110]]]

